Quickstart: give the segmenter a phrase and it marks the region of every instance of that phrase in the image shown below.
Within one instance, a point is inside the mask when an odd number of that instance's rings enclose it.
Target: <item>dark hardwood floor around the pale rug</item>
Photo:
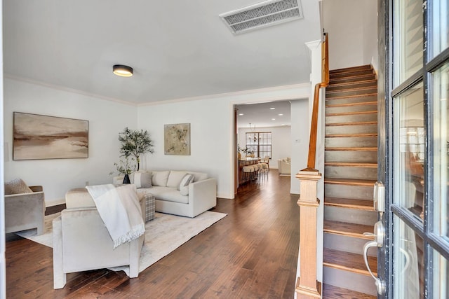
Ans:
[[[53,290],[52,249],[8,234],[7,298],[293,298],[299,246],[297,195],[276,169],[218,199],[228,215],[139,274],[93,270]],[[12,236],[13,237],[12,237]]]

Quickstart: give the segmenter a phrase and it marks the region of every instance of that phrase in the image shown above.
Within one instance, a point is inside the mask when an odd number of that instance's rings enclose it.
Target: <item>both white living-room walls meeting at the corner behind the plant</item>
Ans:
[[[47,206],[62,202],[69,188],[85,186],[86,181],[109,183],[109,172],[119,160],[118,133],[128,126],[148,130],[154,140],[155,153],[142,157],[142,167],[208,172],[217,179],[217,195],[234,198],[234,104],[309,98],[309,94],[307,83],[136,107],[6,78],[5,180],[20,177],[29,185],[43,185]],[[13,111],[89,120],[89,158],[13,161]],[[163,125],[170,123],[191,124],[191,155],[164,155]]]

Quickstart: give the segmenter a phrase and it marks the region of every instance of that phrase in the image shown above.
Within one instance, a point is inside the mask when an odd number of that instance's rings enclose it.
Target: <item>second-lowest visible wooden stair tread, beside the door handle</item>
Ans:
[[[370,276],[363,256],[357,253],[324,248],[323,265]],[[375,256],[368,256],[368,265],[373,274],[377,276],[377,258]]]

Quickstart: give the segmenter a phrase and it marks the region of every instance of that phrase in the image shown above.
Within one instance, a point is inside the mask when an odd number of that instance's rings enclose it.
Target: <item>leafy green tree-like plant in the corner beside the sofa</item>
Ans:
[[[119,141],[121,142],[121,157],[128,158],[133,156],[140,169],[140,155],[142,153],[154,153],[153,141],[149,138],[147,130],[130,130],[126,127],[123,132],[119,133]]]

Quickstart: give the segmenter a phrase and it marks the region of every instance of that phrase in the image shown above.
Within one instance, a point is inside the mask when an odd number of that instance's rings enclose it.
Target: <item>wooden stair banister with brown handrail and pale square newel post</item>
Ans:
[[[300,277],[297,278],[297,298],[321,298],[321,282],[316,279],[316,251],[317,251],[317,209],[319,199],[316,197],[317,184],[321,174],[315,169],[316,162],[316,133],[319,116],[319,95],[321,88],[329,83],[328,63],[328,34],[323,34],[321,43],[321,83],[314,88],[314,102],[311,113],[309,155],[307,168],[296,174],[300,180]]]

